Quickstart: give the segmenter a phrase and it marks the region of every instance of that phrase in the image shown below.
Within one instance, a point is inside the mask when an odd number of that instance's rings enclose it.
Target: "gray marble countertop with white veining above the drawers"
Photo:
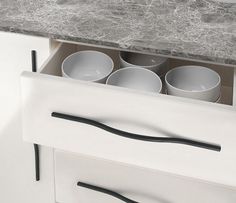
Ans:
[[[236,3],[1,0],[0,30],[236,65]]]

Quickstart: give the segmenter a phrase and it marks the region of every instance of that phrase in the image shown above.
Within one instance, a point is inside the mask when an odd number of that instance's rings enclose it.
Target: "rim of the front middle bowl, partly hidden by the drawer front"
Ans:
[[[111,84],[109,84],[108,82],[109,82],[109,80],[111,79],[112,76],[114,76],[114,75],[117,74],[118,72],[125,71],[125,70],[128,70],[128,69],[142,70],[142,71],[146,71],[146,72],[151,73],[155,78],[157,78],[158,82],[160,83],[160,88],[157,89],[157,90],[154,91],[154,92],[161,93],[162,88],[163,88],[163,84],[162,84],[161,78],[160,78],[155,72],[153,72],[153,71],[151,71],[151,70],[148,70],[148,69],[146,69],[146,68],[139,67],[139,66],[129,66],[129,67],[117,69],[116,71],[114,71],[112,74],[110,74],[110,75],[108,76],[108,78],[106,79],[106,85],[111,85]],[[118,86],[118,85],[116,85],[116,86]],[[122,87],[122,86],[118,86],[118,87]],[[127,88],[128,88],[128,87],[127,87]],[[146,92],[151,92],[151,91],[146,91]]]

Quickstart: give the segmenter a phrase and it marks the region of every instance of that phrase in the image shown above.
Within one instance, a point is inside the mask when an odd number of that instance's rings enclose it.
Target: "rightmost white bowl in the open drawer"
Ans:
[[[167,94],[216,102],[221,79],[215,71],[201,66],[180,66],[165,76]]]

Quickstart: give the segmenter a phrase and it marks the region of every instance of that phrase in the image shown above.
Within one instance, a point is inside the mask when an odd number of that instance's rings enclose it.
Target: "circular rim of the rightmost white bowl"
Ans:
[[[217,76],[218,81],[217,81],[217,83],[216,83],[214,86],[212,86],[212,87],[210,87],[210,88],[207,88],[207,89],[205,89],[205,90],[194,90],[194,91],[189,91],[189,90],[184,90],[184,89],[177,88],[177,87],[171,85],[171,84],[167,81],[167,76],[168,76],[170,73],[172,73],[173,71],[175,71],[175,70],[177,70],[177,69],[184,69],[184,68],[187,68],[187,67],[201,68],[201,69],[208,70],[208,71],[214,73],[214,74]],[[166,86],[170,86],[170,87],[172,87],[173,89],[175,89],[175,90],[177,90],[177,91],[181,91],[181,92],[185,92],[185,93],[203,93],[203,92],[208,92],[208,91],[211,91],[211,90],[213,90],[213,89],[219,87],[219,86],[221,85],[221,77],[220,77],[220,75],[219,75],[216,71],[214,71],[214,70],[212,70],[212,69],[210,69],[210,68],[207,68],[207,67],[204,67],[204,66],[186,65],[186,66],[178,66],[178,67],[175,67],[175,68],[169,70],[169,71],[166,73],[166,75],[165,75],[165,83],[166,83]]]

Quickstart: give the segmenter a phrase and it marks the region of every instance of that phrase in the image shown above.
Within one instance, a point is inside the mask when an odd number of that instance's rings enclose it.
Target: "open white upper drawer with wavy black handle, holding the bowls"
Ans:
[[[22,74],[24,140],[236,187],[233,69],[229,105],[215,104],[60,77],[79,49],[60,43],[38,73]]]

